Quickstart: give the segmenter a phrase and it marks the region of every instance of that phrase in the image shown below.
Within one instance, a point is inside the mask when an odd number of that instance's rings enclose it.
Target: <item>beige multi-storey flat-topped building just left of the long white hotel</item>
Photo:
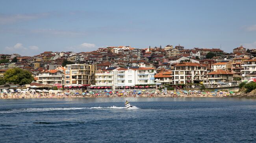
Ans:
[[[65,66],[65,85],[81,84],[89,86],[95,84],[96,65],[72,64]]]

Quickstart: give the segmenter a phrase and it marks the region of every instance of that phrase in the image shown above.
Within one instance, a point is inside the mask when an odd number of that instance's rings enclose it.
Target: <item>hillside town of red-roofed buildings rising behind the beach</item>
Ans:
[[[91,52],[45,51],[35,56],[0,54],[0,76],[8,69],[32,73],[27,87],[59,90],[156,89],[164,85],[236,87],[254,81],[256,49],[242,45],[226,53],[217,48],[185,49],[181,45],[138,49],[131,46],[98,48]],[[7,89],[11,83],[0,85]]]

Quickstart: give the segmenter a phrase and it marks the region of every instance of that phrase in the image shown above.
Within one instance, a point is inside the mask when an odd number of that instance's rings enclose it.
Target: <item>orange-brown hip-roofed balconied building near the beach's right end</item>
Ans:
[[[233,80],[233,73],[222,69],[216,69],[210,72],[208,75],[208,81],[211,84],[231,83]]]

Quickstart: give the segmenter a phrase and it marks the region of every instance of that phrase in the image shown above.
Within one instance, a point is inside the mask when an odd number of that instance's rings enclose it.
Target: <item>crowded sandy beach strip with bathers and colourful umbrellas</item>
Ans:
[[[235,94],[227,91],[61,91],[61,92],[14,92],[1,93],[0,99],[7,98],[98,98],[98,97],[227,97]]]

